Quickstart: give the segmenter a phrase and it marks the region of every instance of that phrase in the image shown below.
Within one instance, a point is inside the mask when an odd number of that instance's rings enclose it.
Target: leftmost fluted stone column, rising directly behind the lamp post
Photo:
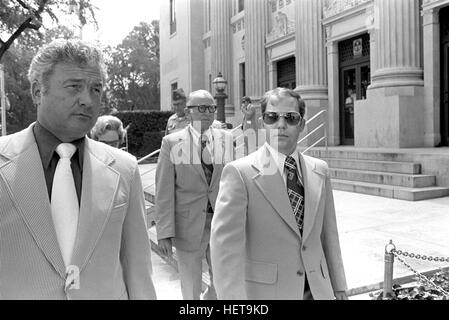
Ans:
[[[228,81],[226,86],[226,116],[234,114],[234,108],[229,108],[232,101],[232,85],[233,79],[231,48],[232,48],[232,32],[231,32],[231,15],[232,0],[211,0],[211,61],[212,61],[212,80],[215,79],[219,72]],[[215,95],[215,89],[212,85],[212,95]]]

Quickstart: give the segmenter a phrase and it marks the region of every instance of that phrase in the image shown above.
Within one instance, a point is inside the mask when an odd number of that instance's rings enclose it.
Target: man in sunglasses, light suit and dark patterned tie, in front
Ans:
[[[276,88],[261,107],[267,142],[221,177],[211,231],[218,298],[346,299],[328,167],[296,149],[304,101]]]

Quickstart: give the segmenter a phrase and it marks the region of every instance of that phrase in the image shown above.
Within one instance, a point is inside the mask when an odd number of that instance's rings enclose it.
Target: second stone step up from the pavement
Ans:
[[[369,182],[393,186],[402,186],[408,188],[424,188],[435,185],[436,178],[424,174],[403,174],[391,172],[375,172],[352,169],[329,169],[331,178],[339,180],[352,180],[360,182]]]

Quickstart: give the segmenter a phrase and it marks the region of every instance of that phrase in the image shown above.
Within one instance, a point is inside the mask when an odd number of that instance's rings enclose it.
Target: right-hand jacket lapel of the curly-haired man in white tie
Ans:
[[[104,148],[86,138],[81,206],[72,256],[72,264],[80,271],[89,261],[114,205],[120,180],[120,173],[110,167],[114,161]]]

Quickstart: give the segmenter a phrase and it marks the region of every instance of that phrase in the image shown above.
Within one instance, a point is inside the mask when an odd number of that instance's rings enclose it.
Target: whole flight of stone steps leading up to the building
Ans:
[[[335,190],[409,201],[449,196],[449,187],[437,185],[437,172],[424,174],[420,156],[413,152],[335,147],[327,155],[324,148],[307,154],[327,161]]]

